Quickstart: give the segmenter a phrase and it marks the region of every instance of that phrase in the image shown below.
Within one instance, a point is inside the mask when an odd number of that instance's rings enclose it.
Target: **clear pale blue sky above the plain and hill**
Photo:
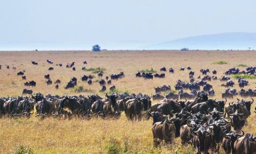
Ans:
[[[256,1],[2,0],[0,50],[118,49],[226,32],[256,32]]]

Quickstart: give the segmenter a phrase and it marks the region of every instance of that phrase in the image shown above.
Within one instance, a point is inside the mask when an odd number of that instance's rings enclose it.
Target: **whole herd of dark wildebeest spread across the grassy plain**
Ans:
[[[47,60],[52,65],[53,62]],[[37,62],[32,62],[33,65],[38,65]],[[84,62],[86,64],[86,62]],[[62,66],[62,64],[56,64]],[[66,65],[67,68],[72,68],[76,71],[75,62]],[[9,66],[6,67],[10,69]],[[2,66],[0,65],[0,69]],[[16,68],[13,68],[16,69]],[[83,68],[84,69],[84,68]],[[191,67],[187,67],[191,70]],[[50,67],[49,70],[54,70]],[[181,67],[180,71],[185,68]],[[248,86],[248,81],[239,78],[238,85],[242,89],[237,92],[236,89],[231,89],[235,82],[230,80],[230,74],[250,74],[256,75],[256,67],[248,67],[246,71],[240,71],[238,68],[230,68],[224,72],[221,81],[225,82],[220,86],[227,87],[222,93],[222,100],[209,99],[208,96],[214,96],[213,86],[208,84],[208,81],[218,80],[217,71],[213,70],[213,76],[209,69],[201,69],[202,76],[194,78],[194,71],[189,72],[190,83],[185,83],[178,80],[175,90],[178,94],[172,92],[171,86],[162,85],[155,87],[155,94],[149,96],[146,94],[128,94],[128,93],[112,93],[105,95],[104,98],[97,94],[87,96],[58,96],[58,95],[43,95],[41,93],[33,94],[32,90],[24,89],[23,94],[30,96],[18,97],[0,97],[0,116],[1,117],[31,117],[35,116],[43,119],[51,116],[54,118],[81,118],[90,119],[98,117],[103,119],[117,119],[122,112],[128,120],[153,119],[152,134],[155,146],[161,143],[172,144],[175,138],[180,137],[183,146],[192,144],[197,153],[208,153],[209,150],[219,152],[222,147],[226,153],[256,153],[256,136],[251,133],[244,133],[243,127],[247,123],[255,123],[248,121],[249,116],[256,116],[256,108],[251,109],[251,105],[256,96],[256,89],[243,88]],[[153,79],[165,78],[167,71],[165,67],[160,68],[162,73],[136,72],[137,78]],[[169,69],[170,73],[174,73],[174,69]],[[18,76],[23,80],[26,79],[25,71],[19,71]],[[98,72],[99,84],[102,86],[100,91],[105,91],[105,85],[111,85],[113,80],[125,78],[124,72],[111,74],[110,79],[105,76],[104,72]],[[45,74],[46,84],[53,84],[50,74]],[[82,81],[87,81],[90,85],[92,75],[82,76]],[[196,81],[196,79],[198,81]],[[89,82],[90,81],[90,82]],[[58,89],[60,80],[56,80],[55,87]],[[77,78],[72,78],[67,83],[65,89],[74,88],[77,85]],[[35,81],[26,82],[25,86],[36,86]],[[202,90],[200,91],[200,87]],[[114,89],[114,85],[111,85]],[[184,92],[190,90],[191,93]],[[161,95],[161,92],[168,91],[166,95]],[[226,98],[232,98],[235,95],[242,97],[251,97],[238,99],[232,102],[227,102]],[[151,99],[159,99],[157,103],[151,104]],[[189,99],[189,100],[187,100]]]

